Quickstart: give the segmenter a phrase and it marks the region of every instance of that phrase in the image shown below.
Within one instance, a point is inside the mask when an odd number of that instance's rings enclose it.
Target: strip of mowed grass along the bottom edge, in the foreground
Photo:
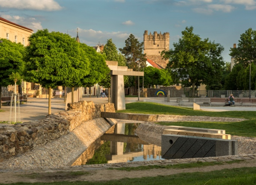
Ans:
[[[138,171],[139,173],[139,171]],[[115,173],[113,172],[113,175]],[[168,176],[123,178],[107,182],[52,182],[52,183],[13,183],[12,185],[254,185],[256,184],[256,168],[223,169],[212,172],[179,173]]]

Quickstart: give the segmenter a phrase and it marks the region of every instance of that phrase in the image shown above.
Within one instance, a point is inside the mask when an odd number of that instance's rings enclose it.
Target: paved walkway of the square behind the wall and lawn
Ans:
[[[81,100],[93,101],[95,104],[107,103],[108,98],[97,98],[97,97],[84,97]],[[125,103],[137,102],[138,98],[125,98]],[[154,102],[172,106],[179,106],[176,98],[171,98],[170,102],[164,101],[164,98],[140,98],[142,102]],[[243,106],[224,106],[224,103],[212,103],[212,106],[206,106],[200,104],[201,110],[204,111],[256,111],[255,103],[246,103]],[[193,107],[192,102],[185,100],[183,107]],[[10,114],[10,106],[2,106],[4,112],[0,112],[0,122],[8,121]],[[59,113],[65,110],[65,103],[63,98],[52,98],[51,99],[51,113]],[[12,113],[13,115],[13,113]],[[42,119],[48,115],[48,99],[46,98],[28,98],[28,103],[20,105],[20,116],[21,122],[33,121]]]

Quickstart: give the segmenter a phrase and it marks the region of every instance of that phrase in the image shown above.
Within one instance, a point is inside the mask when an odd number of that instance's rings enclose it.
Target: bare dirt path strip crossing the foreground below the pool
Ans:
[[[210,172],[214,170],[232,169],[241,167],[256,167],[256,159],[245,160],[239,163],[223,164],[215,166],[205,166],[187,169],[150,169],[140,171],[121,171],[116,169],[78,169],[71,168],[66,171],[59,169],[56,171],[51,169],[22,171],[22,172],[4,172],[0,173],[0,183],[9,184],[16,182],[57,182],[57,181],[110,181],[122,178],[141,178],[154,177],[158,175],[173,175],[178,173],[191,172]],[[114,174],[114,175],[113,175]]]

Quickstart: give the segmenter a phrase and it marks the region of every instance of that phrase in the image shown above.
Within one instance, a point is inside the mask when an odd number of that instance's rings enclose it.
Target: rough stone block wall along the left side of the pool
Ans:
[[[95,105],[92,101],[81,101],[68,104],[68,111],[45,119],[15,125],[0,124],[0,162],[58,139],[81,123],[100,117],[102,111],[115,112],[114,104]]]

